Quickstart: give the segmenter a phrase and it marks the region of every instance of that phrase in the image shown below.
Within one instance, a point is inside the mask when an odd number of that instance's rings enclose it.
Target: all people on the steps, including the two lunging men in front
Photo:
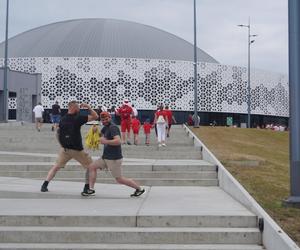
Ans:
[[[87,112],[81,112],[84,109]],[[41,117],[44,110],[39,103],[33,110],[36,118],[37,130],[41,129]],[[120,118],[120,128],[115,124],[116,118]],[[172,111],[168,106],[160,105],[154,114],[153,123],[147,118],[141,124],[138,118],[138,111],[134,105],[130,105],[127,99],[119,108],[113,107],[108,110],[104,106],[99,107],[97,112],[90,105],[82,103],[79,105],[76,101],[68,104],[68,112],[61,117],[61,109],[56,102],[52,106],[52,131],[57,131],[57,138],[61,149],[59,151],[56,163],[49,170],[45,181],[41,186],[41,192],[48,192],[49,182],[55,174],[64,168],[68,161],[75,159],[86,169],[85,185],[82,196],[95,195],[94,185],[96,182],[97,170],[108,169],[116,182],[135,189],[132,197],[138,197],[145,192],[135,180],[126,178],[122,175],[122,144],[131,145],[131,131],[133,132],[133,143],[140,144],[139,132],[141,127],[145,134],[145,144],[150,144],[151,130],[154,129],[157,138],[158,147],[166,147],[166,137],[170,137],[170,129],[173,122],[176,122]],[[99,133],[97,137],[100,144],[103,145],[103,154],[92,161],[90,155],[84,150],[81,136],[81,126],[87,122],[99,120],[102,124],[101,132],[96,126],[91,128],[92,132]]]

